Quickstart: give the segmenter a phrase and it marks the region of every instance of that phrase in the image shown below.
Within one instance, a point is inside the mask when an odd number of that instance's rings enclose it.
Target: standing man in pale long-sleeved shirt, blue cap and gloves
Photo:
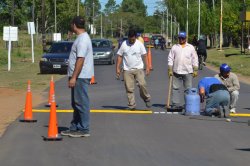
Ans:
[[[192,87],[198,76],[198,56],[193,45],[186,42],[186,33],[178,35],[179,44],[173,45],[168,55],[168,76],[173,76],[172,107],[181,107],[181,84],[184,90]]]

